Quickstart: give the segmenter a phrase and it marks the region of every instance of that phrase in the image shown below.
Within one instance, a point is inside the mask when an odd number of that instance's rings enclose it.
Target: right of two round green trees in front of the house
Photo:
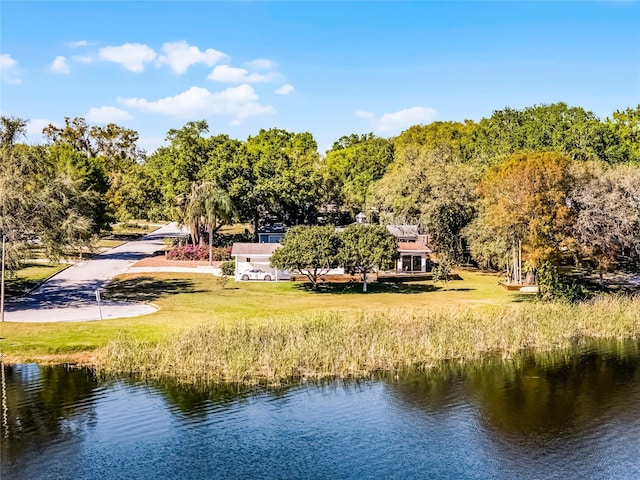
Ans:
[[[398,258],[398,239],[382,225],[350,225],[340,235],[338,260],[346,271],[362,275],[367,291],[367,274],[393,267]]]

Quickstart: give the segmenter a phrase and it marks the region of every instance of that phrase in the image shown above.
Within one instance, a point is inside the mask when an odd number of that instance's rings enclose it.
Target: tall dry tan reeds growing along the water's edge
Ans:
[[[527,303],[245,320],[199,325],[157,344],[121,337],[96,353],[100,375],[182,384],[276,384],[366,377],[524,350],[550,351],[585,338],[640,338],[640,298]]]

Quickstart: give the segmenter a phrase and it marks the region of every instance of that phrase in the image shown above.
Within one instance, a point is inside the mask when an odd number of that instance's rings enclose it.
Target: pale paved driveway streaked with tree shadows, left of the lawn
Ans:
[[[155,232],[77,263],[47,280],[26,297],[7,302],[5,321],[60,322],[100,320],[96,290],[138,260],[164,246],[164,238],[182,233],[171,223]],[[102,302],[102,318],[135,317],[154,312],[144,303]]]

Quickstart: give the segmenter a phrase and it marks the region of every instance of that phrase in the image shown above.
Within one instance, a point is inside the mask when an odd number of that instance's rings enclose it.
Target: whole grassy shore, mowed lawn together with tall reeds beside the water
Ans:
[[[640,338],[640,298],[541,303],[507,292],[497,277],[359,285],[311,292],[292,282],[209,275],[118,277],[105,294],[148,301],[151,315],[80,323],[4,323],[4,363],[90,366],[101,374],[182,383],[276,384],[366,377],[443,360],[561,349],[581,338]]]

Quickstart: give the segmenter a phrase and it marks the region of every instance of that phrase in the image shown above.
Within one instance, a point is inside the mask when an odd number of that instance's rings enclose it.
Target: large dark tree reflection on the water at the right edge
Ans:
[[[449,363],[416,372],[389,391],[429,414],[463,398],[490,430],[512,437],[556,437],[604,422],[640,404],[640,344],[604,342],[513,361]]]

